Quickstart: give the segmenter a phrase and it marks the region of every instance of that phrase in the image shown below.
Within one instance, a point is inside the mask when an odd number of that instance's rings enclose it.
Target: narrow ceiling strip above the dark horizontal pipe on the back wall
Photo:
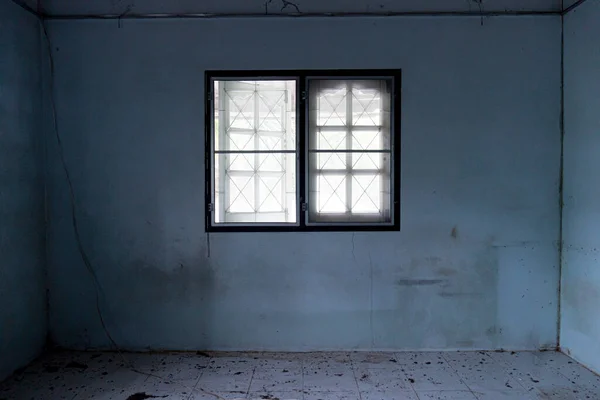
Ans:
[[[22,0],[49,15],[561,11],[561,0]],[[577,0],[565,0],[565,7]],[[479,3],[481,2],[481,4]],[[38,4],[39,3],[39,4]]]

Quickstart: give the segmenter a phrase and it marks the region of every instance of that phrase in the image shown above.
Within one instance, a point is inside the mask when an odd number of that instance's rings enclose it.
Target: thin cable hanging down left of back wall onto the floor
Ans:
[[[116,351],[119,356],[121,357],[121,359],[123,360],[123,364],[124,366],[126,366],[127,368],[129,368],[131,371],[136,372],[138,374],[141,375],[145,375],[148,377],[153,377],[153,378],[158,378],[160,380],[162,380],[163,382],[169,382],[171,384],[180,386],[182,388],[191,390],[193,391],[198,391],[200,393],[205,393],[208,394],[210,396],[213,396],[219,400],[225,400],[223,397],[219,396],[216,393],[212,393],[209,392],[201,387],[191,387],[191,386],[187,386],[184,385],[180,382],[177,381],[173,381],[170,379],[166,379],[160,375],[155,375],[155,374],[151,374],[148,372],[144,372],[144,371],[140,371],[137,368],[135,368],[135,366],[133,365],[133,363],[129,362],[127,360],[127,358],[125,357],[125,355],[123,354],[123,351],[121,350],[121,348],[119,347],[119,345],[117,344],[117,342],[114,340],[114,338],[112,337],[112,335],[110,334],[110,331],[108,330],[108,327],[106,326],[106,322],[104,320],[104,316],[102,314],[102,309],[100,307],[100,294],[104,294],[104,291],[102,289],[102,286],[100,285],[100,280],[98,279],[98,275],[96,274],[96,271],[94,270],[92,263],[85,251],[85,248],[83,247],[83,243],[81,240],[81,235],[79,232],[79,222],[77,220],[77,206],[76,206],[76,201],[75,201],[75,190],[73,188],[73,181],[71,179],[71,173],[69,172],[69,168],[67,166],[67,161],[65,158],[65,154],[64,154],[64,147],[63,147],[63,143],[62,143],[62,139],[60,136],[60,132],[58,129],[58,117],[57,117],[57,107],[56,107],[56,99],[55,99],[55,88],[54,88],[54,79],[55,79],[55,65],[54,65],[54,56],[52,54],[52,43],[50,41],[50,36],[48,34],[48,31],[46,29],[46,24],[44,23],[44,21],[42,19],[40,19],[40,24],[41,24],[41,28],[42,28],[42,32],[44,34],[44,38],[46,41],[46,45],[47,45],[47,52],[48,52],[48,62],[50,64],[50,83],[49,83],[49,90],[50,90],[50,103],[51,103],[51,111],[52,111],[52,122],[53,122],[53,128],[54,128],[54,134],[55,134],[55,138],[56,138],[56,143],[58,145],[58,153],[59,153],[59,157],[60,157],[60,161],[61,161],[61,165],[62,165],[62,169],[64,171],[65,174],[65,178],[67,180],[67,185],[69,187],[69,200],[70,200],[70,205],[71,205],[71,223],[73,225],[73,231],[75,234],[75,241],[77,243],[77,249],[79,251],[79,254],[81,255],[81,259],[83,260],[83,263],[85,264],[85,267],[87,269],[87,271],[89,272],[90,276],[92,277],[92,280],[94,282],[94,292],[95,292],[95,300],[96,300],[96,312],[98,313],[98,319],[100,320],[100,324],[102,325],[102,329],[104,330],[104,333],[106,334],[106,337],[108,338],[108,340],[111,343],[111,346],[113,347],[113,350]]]

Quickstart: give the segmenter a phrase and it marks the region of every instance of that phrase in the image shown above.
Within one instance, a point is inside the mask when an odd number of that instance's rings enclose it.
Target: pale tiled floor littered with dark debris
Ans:
[[[0,399],[600,399],[600,377],[555,352],[48,355]]]

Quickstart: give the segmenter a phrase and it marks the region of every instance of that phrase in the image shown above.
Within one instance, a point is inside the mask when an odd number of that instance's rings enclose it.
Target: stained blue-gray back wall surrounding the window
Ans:
[[[53,21],[101,307],[129,349],[556,346],[560,18]],[[402,68],[402,231],[204,232],[206,69]],[[54,142],[52,142],[54,143]],[[49,146],[51,334],[108,347]]]

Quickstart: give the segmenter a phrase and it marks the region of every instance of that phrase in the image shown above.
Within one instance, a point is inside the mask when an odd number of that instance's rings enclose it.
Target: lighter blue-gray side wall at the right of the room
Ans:
[[[600,372],[600,1],[565,17],[561,347]]]

